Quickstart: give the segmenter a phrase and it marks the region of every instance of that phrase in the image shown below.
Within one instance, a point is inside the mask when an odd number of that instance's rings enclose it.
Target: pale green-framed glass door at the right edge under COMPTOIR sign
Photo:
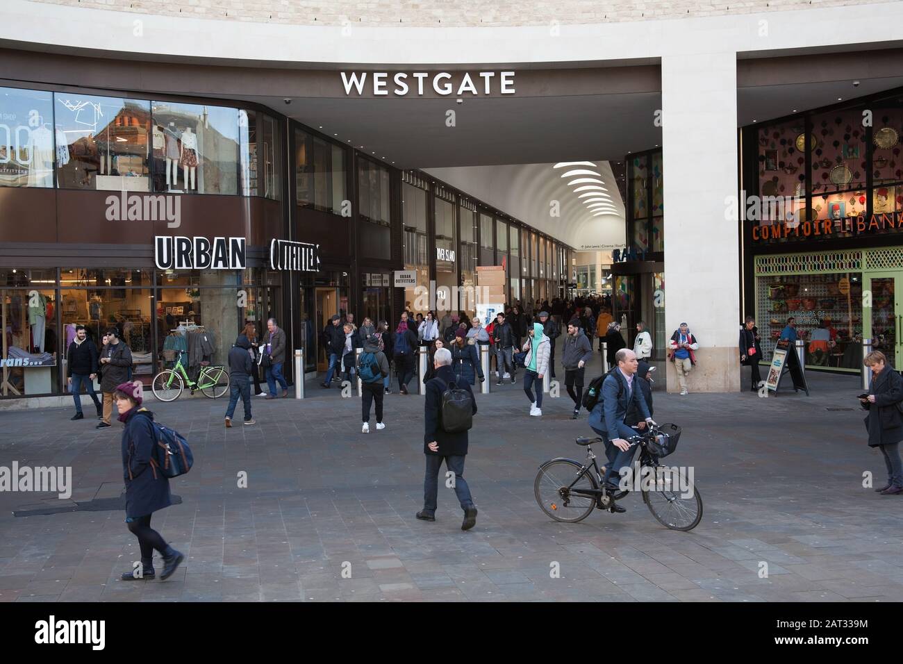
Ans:
[[[869,307],[869,297],[871,306]],[[903,272],[873,272],[866,276],[862,298],[865,336],[872,339],[872,348],[883,352],[894,368],[901,366],[903,346]]]

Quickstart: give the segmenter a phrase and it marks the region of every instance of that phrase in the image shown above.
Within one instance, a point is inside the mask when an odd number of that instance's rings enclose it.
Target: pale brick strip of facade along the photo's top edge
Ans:
[[[288,23],[298,25],[358,25],[465,27],[619,23],[690,16],[780,12],[809,7],[873,5],[894,0],[380,0],[379,2],[323,2],[323,0],[33,0],[51,5],[107,9],[135,14]]]

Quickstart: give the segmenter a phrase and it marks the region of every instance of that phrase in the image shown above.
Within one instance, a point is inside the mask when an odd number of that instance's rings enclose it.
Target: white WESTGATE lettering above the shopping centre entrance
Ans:
[[[424,96],[424,89],[433,89],[437,95],[447,97],[465,94],[473,96],[515,94],[514,71],[341,71],[345,95],[357,92],[358,97],[372,91],[375,97],[387,97],[389,91],[396,97]]]

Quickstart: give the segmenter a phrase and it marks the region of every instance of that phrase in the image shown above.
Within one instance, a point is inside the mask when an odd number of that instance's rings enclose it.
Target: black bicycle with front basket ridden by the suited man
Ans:
[[[629,444],[640,446],[640,472],[633,483],[639,485],[643,502],[659,523],[672,530],[692,530],[703,519],[703,499],[684,472],[659,463],[661,456],[674,451],[679,436],[679,426],[661,425],[650,426],[646,433],[628,438]],[[539,467],[533,483],[539,507],[552,519],[564,523],[582,521],[596,508],[608,510],[629,493],[629,486],[619,486],[618,491],[604,486],[591,447],[603,444],[601,438],[577,438],[575,442],[586,446],[584,463],[552,459]]]

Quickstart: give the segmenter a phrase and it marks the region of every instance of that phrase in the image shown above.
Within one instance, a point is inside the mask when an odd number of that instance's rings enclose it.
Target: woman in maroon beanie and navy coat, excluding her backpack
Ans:
[[[113,393],[119,421],[126,425],[122,434],[122,471],[126,481],[126,524],[141,547],[141,571],[134,569],[122,575],[123,581],[153,579],[154,549],[163,556],[165,579],[175,572],[184,559],[179,551],[166,544],[154,528],[151,515],[172,504],[169,479],[155,467],[156,431],[154,414],[141,407],[142,397],[135,396],[133,383],[122,383]]]

